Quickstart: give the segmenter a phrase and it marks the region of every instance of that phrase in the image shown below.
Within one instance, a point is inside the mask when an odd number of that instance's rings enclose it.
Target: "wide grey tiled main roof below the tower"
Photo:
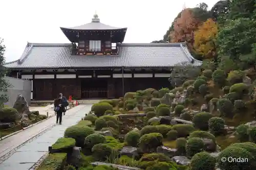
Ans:
[[[80,67],[171,67],[181,62],[200,66],[185,43],[121,43],[118,56],[72,56],[71,44],[28,43],[19,60],[5,63],[13,69]]]

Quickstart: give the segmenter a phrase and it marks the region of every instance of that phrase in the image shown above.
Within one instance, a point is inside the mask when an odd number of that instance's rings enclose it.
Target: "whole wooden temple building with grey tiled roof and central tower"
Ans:
[[[177,63],[196,66],[185,43],[122,43],[127,28],[100,22],[60,30],[71,43],[28,43],[22,56],[5,63],[10,77],[32,81],[31,99],[112,99],[125,92],[169,87]]]

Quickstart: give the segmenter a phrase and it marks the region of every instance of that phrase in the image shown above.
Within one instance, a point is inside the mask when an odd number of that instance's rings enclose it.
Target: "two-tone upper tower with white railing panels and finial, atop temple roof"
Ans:
[[[97,14],[90,23],[60,29],[73,44],[72,55],[118,55],[116,43],[123,42],[127,30],[101,23]]]

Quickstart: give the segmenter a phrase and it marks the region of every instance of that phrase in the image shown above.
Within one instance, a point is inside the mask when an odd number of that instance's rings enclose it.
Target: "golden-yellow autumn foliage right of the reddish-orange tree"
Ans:
[[[194,48],[204,58],[216,55],[215,39],[218,33],[217,23],[211,18],[207,19],[194,33]]]

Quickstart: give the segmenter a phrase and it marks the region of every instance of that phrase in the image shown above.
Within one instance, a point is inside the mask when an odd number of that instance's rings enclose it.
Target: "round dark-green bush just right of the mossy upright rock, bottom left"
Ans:
[[[105,161],[112,152],[113,149],[104,143],[95,144],[92,148],[93,157],[98,161]]]

